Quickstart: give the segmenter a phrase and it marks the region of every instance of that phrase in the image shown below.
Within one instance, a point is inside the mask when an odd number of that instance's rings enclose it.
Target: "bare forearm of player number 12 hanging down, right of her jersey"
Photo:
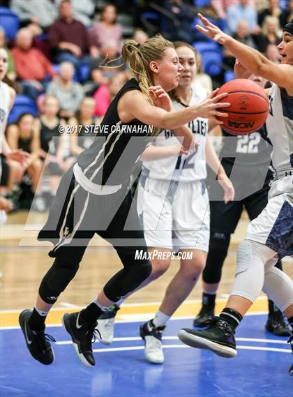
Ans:
[[[223,165],[221,165],[220,160],[218,159],[215,149],[213,149],[213,144],[209,135],[206,135],[205,154],[206,163],[216,173],[217,180],[220,183],[220,186],[224,189],[224,202],[226,204],[234,199],[235,191],[232,182],[227,177]]]

